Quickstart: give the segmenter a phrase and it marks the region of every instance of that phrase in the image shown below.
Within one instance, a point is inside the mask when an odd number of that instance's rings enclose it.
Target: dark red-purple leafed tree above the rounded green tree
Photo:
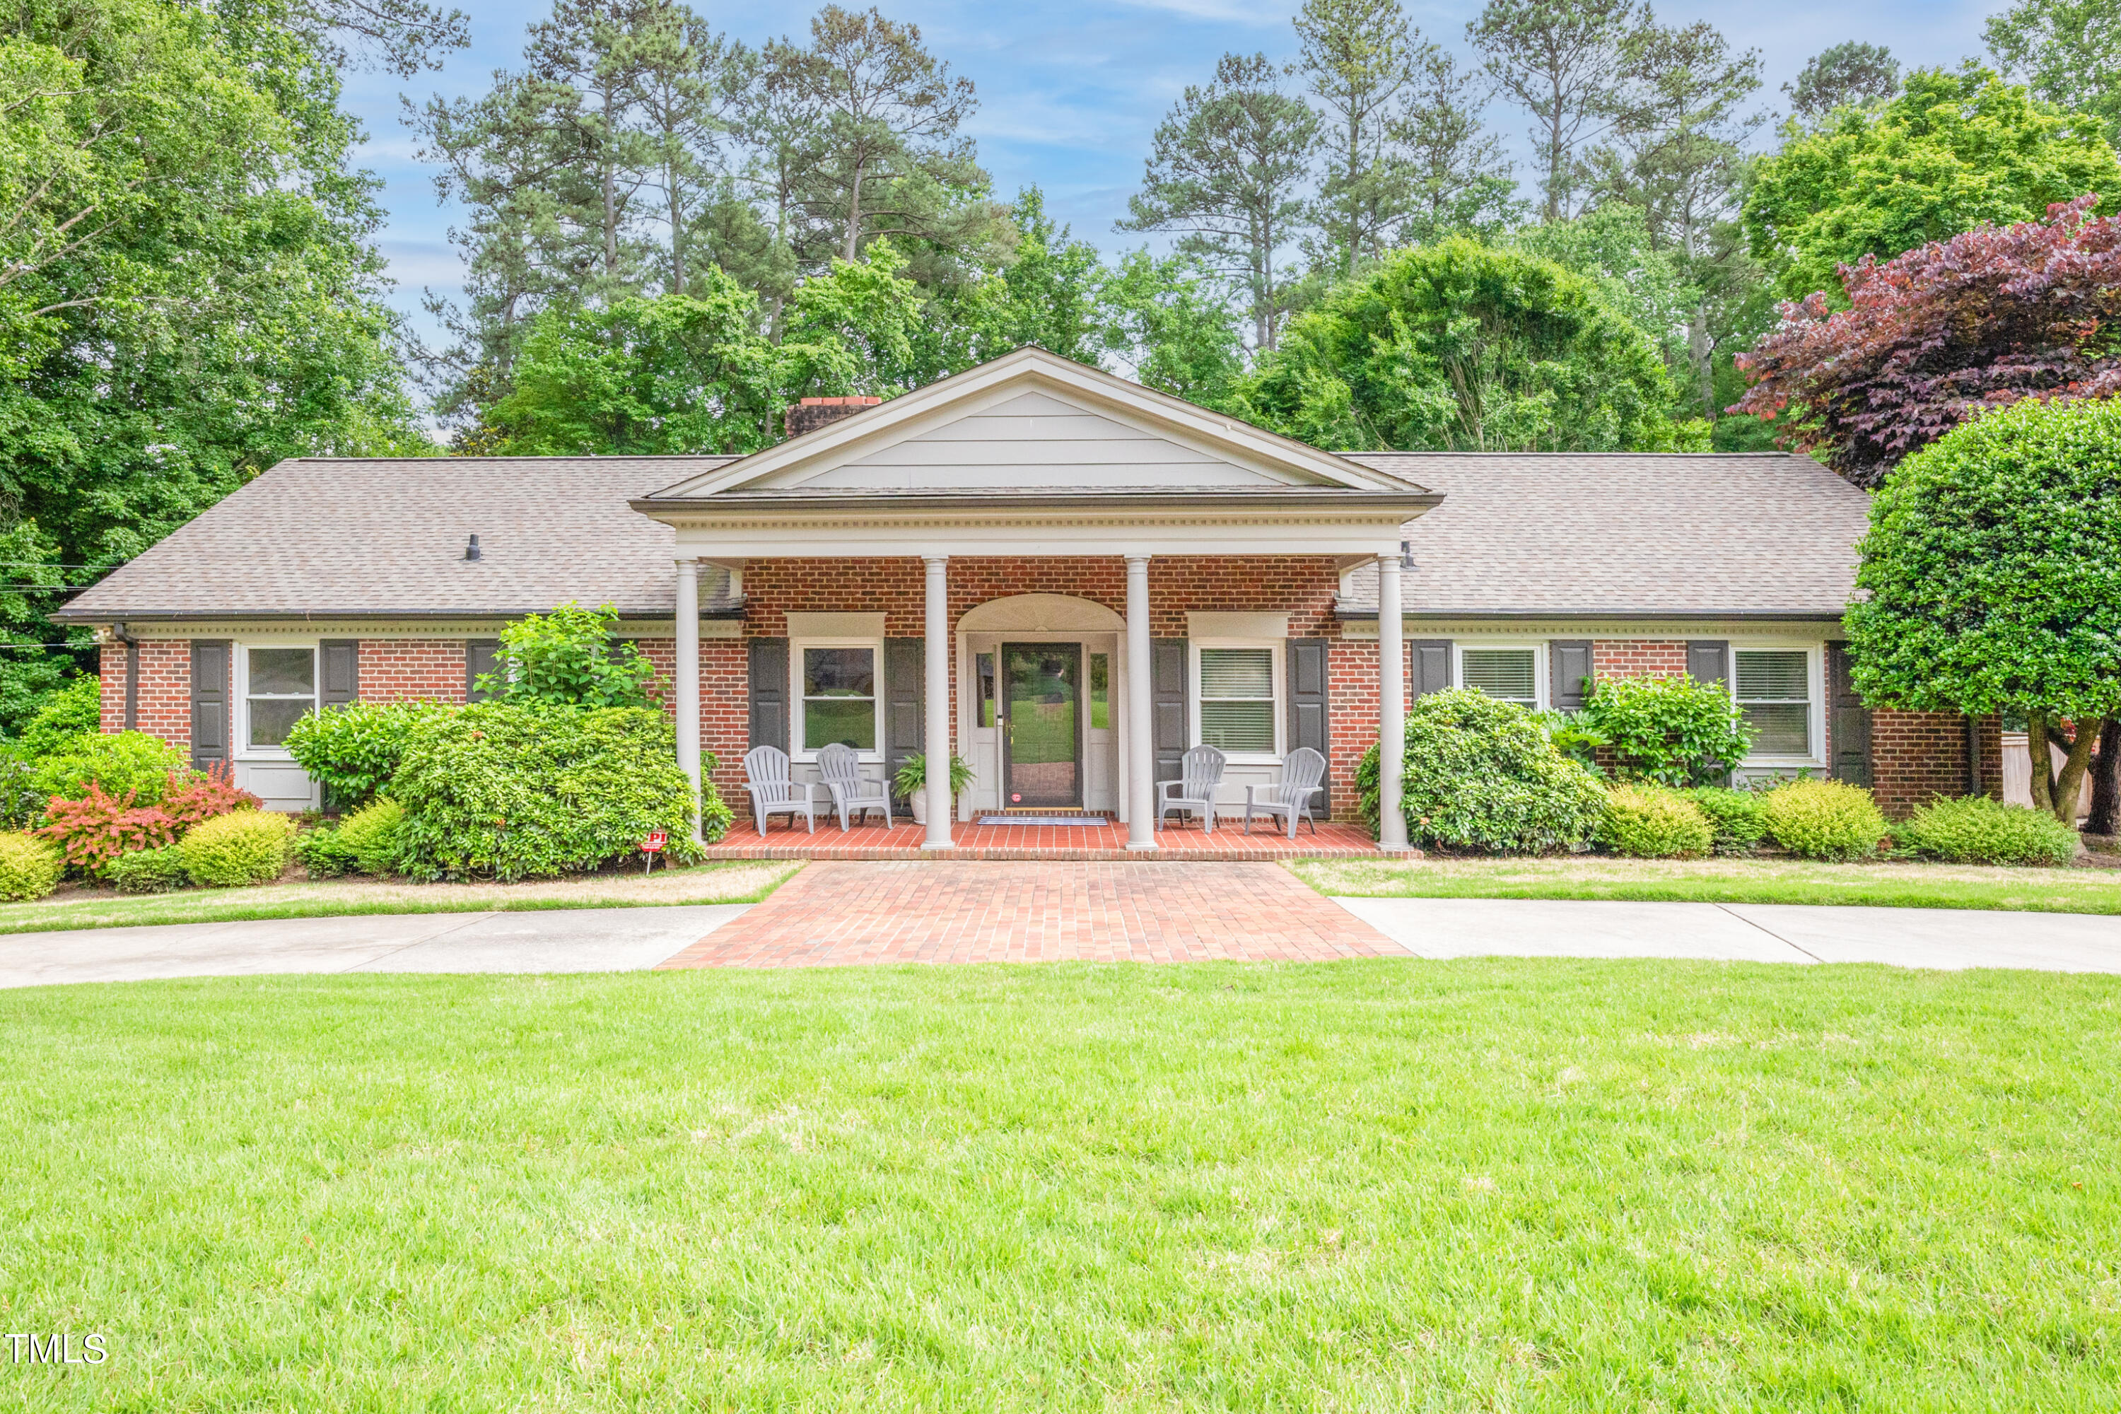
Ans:
[[[1729,411],[1782,418],[1782,445],[1877,485],[1983,407],[2121,394],[2121,218],[2087,220],[2096,204],[1843,265],[1852,307],[1782,305]]]

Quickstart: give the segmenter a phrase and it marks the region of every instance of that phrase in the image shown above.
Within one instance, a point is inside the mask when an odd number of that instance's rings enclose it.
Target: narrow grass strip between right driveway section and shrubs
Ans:
[[[1313,888],[1364,899],[1637,899],[1869,903],[2121,914],[2121,869],[1813,865],[1788,859],[1307,859]]]

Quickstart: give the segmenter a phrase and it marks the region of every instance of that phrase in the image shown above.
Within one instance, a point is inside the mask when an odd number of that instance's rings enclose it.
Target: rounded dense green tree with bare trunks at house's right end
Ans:
[[[2121,401],[2026,399],[1909,456],[1871,502],[1856,587],[1858,691],[2023,714],[2032,799],[2074,823],[2091,746],[2121,717]]]

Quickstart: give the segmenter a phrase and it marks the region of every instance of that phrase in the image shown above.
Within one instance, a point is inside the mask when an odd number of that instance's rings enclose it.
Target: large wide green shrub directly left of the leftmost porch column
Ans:
[[[418,880],[551,878],[632,856],[651,831],[698,859],[677,731],[647,708],[437,712],[414,727],[390,795],[399,869]]]

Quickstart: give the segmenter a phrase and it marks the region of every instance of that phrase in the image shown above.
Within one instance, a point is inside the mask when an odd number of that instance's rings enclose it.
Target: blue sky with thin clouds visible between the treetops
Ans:
[[[420,290],[454,295],[456,252],[448,244],[452,212],[435,204],[431,172],[414,159],[401,121],[399,93],[477,93],[494,68],[522,57],[524,30],[545,8],[494,0],[456,0],[471,15],[473,47],[450,57],[439,74],[399,81],[392,74],[348,74],[348,106],[367,125],[361,163],[384,178],[388,223],[382,250],[399,282],[392,303],[431,331]],[[842,0],[855,4],[857,0]],[[715,28],[749,45],[783,34],[804,36],[812,6],[713,4],[694,0]],[[971,78],[980,112],[969,125],[980,159],[999,193],[1037,184],[1048,210],[1075,235],[1111,252],[1141,237],[1114,233],[1126,197],[1141,178],[1150,134],[1188,83],[1200,83],[1224,51],[1296,51],[1294,0],[891,0],[880,8],[921,25],[929,49]],[[1451,4],[1413,0],[1408,13],[1423,34],[1463,55],[1466,21],[1476,0]],[[1739,47],[1760,51],[1775,104],[1780,85],[1803,61],[1841,40],[1886,45],[1903,64],[1956,64],[1979,55],[1981,21],[1998,2],[1922,0],[1773,0],[1769,4],[1665,2],[1659,19],[1707,19]],[[1489,123],[1523,157],[1525,114],[1495,102]],[[1529,182],[1527,182],[1529,184]]]

